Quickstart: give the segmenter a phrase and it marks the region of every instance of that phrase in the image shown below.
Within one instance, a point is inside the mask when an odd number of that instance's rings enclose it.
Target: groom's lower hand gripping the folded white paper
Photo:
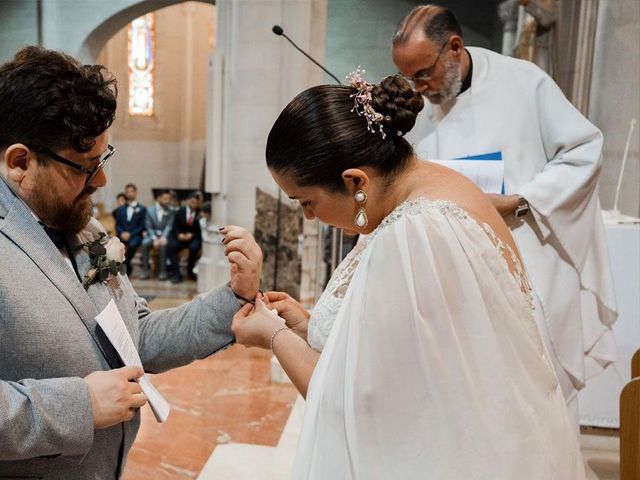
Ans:
[[[143,374],[142,367],[130,366],[93,372],[84,378],[89,387],[94,428],[128,422],[147,403],[147,397],[135,382]]]

